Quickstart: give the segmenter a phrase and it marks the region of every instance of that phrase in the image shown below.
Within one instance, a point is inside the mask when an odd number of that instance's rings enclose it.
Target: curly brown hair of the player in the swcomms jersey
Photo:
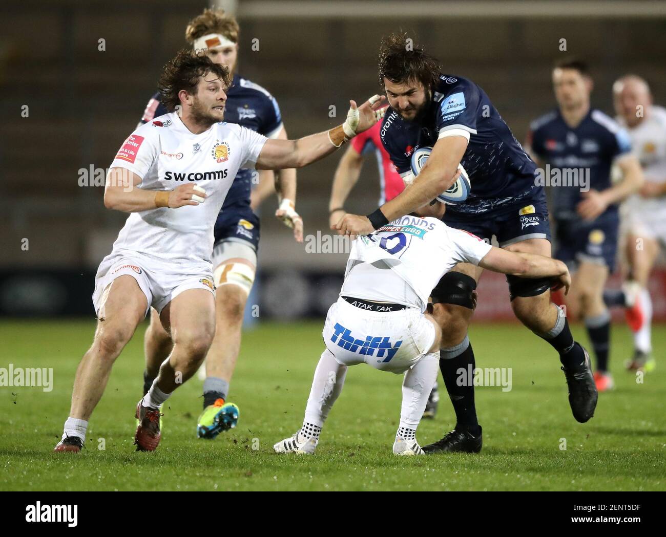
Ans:
[[[199,77],[205,77],[208,73],[220,77],[226,87],[231,85],[229,69],[226,66],[213,63],[204,53],[192,54],[190,49],[178,51],[178,54],[166,63],[160,77],[160,102],[169,112],[173,112],[180,104],[178,92],[185,90],[193,95],[196,93]]]

